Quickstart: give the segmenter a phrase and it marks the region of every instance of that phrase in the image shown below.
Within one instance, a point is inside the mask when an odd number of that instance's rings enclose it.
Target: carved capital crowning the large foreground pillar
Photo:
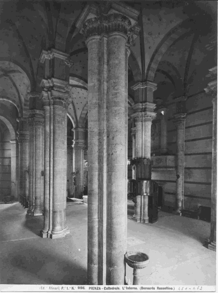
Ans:
[[[81,33],[88,39],[91,36],[100,36],[112,32],[121,32],[126,35],[128,42],[133,43],[131,21],[121,13],[102,14],[100,17],[92,17],[83,24]]]

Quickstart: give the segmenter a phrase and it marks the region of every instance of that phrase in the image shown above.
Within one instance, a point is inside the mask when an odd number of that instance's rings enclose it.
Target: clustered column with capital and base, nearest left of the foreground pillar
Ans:
[[[66,226],[66,108],[68,82],[43,79],[41,98],[45,114],[45,193],[44,227],[41,236],[60,238],[69,233]],[[47,90],[46,90],[47,89]],[[49,90],[48,90],[49,89]]]

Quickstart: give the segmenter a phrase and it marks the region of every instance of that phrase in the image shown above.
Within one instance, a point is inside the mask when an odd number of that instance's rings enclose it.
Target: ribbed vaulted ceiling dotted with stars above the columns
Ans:
[[[78,123],[86,109],[88,83],[88,51],[80,29],[91,15],[92,5],[110,6],[112,2],[1,1],[2,100],[10,100],[22,113],[26,92],[41,91],[41,50],[56,48],[68,53],[74,62],[69,115]],[[208,69],[217,62],[217,2],[121,1],[121,5],[139,14],[140,33],[131,46],[128,69],[131,103],[134,92],[130,86],[145,79],[158,84],[154,98],[163,101],[203,90]]]

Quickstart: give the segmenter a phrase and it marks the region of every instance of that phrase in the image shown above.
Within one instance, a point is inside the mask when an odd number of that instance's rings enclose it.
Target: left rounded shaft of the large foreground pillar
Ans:
[[[88,284],[105,283],[103,272],[104,248],[101,221],[101,176],[102,118],[99,101],[101,100],[101,39],[93,36],[87,41],[88,47]],[[102,96],[104,101],[105,97]],[[103,122],[103,121],[102,121]],[[75,152],[75,151],[74,151]],[[104,158],[104,156],[103,156]],[[101,178],[101,177],[100,177]],[[105,196],[102,190],[102,198]],[[99,244],[101,243],[100,249]],[[105,272],[104,272],[105,275]]]

